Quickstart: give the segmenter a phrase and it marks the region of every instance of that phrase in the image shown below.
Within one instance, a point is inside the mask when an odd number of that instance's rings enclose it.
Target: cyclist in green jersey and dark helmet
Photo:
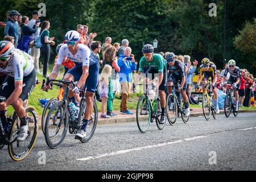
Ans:
[[[146,73],[148,79],[148,73],[152,74],[152,80],[155,79],[155,74],[158,74],[158,82],[156,87],[159,88],[160,96],[160,105],[162,109],[160,123],[163,124],[166,122],[166,93],[164,92],[167,82],[167,72],[166,72],[166,61],[163,56],[158,53],[154,53],[154,47],[151,44],[146,44],[142,48],[143,57],[139,61],[139,71],[138,76],[136,77],[136,82],[139,82],[141,79],[141,74]],[[144,70],[144,67],[147,67],[147,70]],[[148,81],[149,82],[149,81]]]

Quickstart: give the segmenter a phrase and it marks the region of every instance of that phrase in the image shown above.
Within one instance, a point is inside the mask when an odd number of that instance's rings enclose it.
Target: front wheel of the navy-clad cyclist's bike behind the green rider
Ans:
[[[166,104],[166,115],[170,125],[174,126],[177,121],[177,101],[173,94],[168,94]]]

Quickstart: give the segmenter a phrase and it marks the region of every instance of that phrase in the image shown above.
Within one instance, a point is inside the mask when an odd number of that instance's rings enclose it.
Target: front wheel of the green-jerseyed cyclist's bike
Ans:
[[[141,131],[141,133],[145,133],[151,120],[150,103],[146,96],[139,98],[136,110],[136,119],[139,131]]]

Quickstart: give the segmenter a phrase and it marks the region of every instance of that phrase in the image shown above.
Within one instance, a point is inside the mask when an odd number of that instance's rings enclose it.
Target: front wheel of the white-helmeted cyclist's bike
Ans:
[[[50,148],[57,148],[63,142],[68,130],[68,110],[64,101],[57,101],[46,118],[45,138]]]

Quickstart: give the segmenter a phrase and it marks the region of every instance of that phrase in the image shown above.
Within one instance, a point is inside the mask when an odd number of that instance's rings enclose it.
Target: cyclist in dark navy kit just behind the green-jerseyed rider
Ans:
[[[184,106],[185,106],[185,116],[188,117],[190,114],[189,110],[189,100],[188,96],[186,94],[187,90],[187,81],[186,81],[186,74],[185,74],[185,66],[180,61],[175,59],[175,54],[173,52],[168,52],[165,56],[165,59],[167,60],[167,69],[169,70],[168,73],[168,86],[177,85],[178,81],[181,81],[180,83],[180,92],[181,96],[184,100]],[[171,93],[171,87],[168,88],[168,93]]]

